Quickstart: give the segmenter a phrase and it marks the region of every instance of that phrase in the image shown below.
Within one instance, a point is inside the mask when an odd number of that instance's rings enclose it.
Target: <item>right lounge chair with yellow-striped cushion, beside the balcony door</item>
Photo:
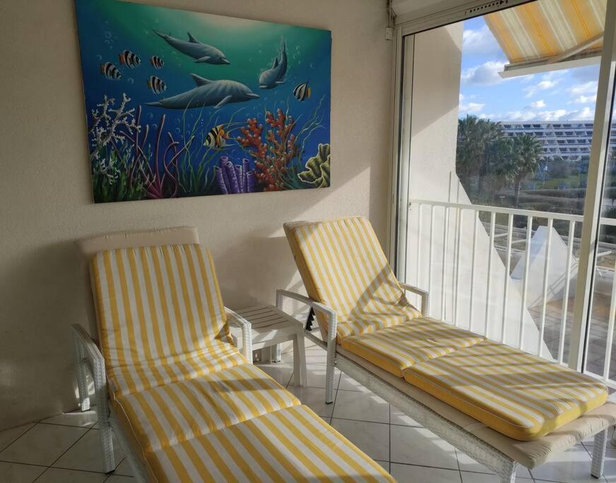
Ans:
[[[595,436],[591,474],[603,475],[616,405],[603,383],[425,315],[428,293],[396,280],[369,221],[286,223],[285,233],[327,351],[326,402],[337,366],[502,482]],[[422,308],[405,292],[417,293]],[[423,314],[423,316],[422,316]]]

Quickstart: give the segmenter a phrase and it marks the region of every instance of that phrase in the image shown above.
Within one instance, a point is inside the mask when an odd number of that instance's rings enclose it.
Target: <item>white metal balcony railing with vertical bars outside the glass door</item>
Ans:
[[[574,214],[412,199],[407,279],[432,294],[430,315],[567,363],[582,222]],[[616,219],[602,218],[601,226]],[[600,361],[586,359],[586,371],[616,388],[616,245],[600,243],[597,265],[593,308],[605,308],[606,317],[593,317],[590,333],[605,351]]]

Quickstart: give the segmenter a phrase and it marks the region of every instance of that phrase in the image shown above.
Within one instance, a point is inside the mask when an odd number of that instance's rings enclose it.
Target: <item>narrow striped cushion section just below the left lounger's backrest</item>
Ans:
[[[199,378],[245,363],[247,360],[235,346],[227,342],[215,342],[206,349],[189,354],[107,368],[107,379],[112,395],[117,397],[179,380]]]

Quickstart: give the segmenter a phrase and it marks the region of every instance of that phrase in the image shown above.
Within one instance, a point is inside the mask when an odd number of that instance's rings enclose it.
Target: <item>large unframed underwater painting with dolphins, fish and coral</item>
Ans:
[[[76,0],[94,200],[330,184],[331,32]]]

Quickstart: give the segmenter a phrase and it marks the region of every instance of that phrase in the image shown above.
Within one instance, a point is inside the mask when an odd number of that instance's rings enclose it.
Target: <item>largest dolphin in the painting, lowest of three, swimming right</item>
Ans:
[[[213,105],[218,109],[227,103],[243,103],[246,100],[259,98],[259,95],[250,88],[236,81],[210,81],[196,74],[191,76],[197,85],[196,88],[147,105],[167,109],[191,109]]]

